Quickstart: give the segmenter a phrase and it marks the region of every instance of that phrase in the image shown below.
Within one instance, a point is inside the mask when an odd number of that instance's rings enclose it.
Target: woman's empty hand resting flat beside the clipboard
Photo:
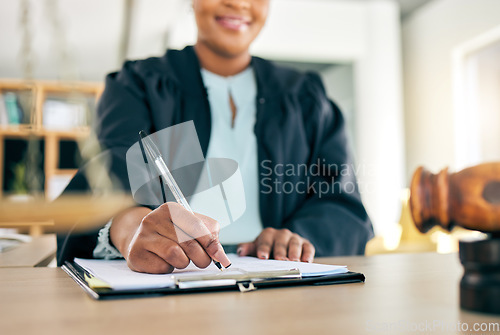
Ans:
[[[277,260],[310,263],[314,259],[315,250],[311,242],[288,229],[266,228],[255,241],[241,243],[237,252],[240,256],[269,259],[272,255]]]

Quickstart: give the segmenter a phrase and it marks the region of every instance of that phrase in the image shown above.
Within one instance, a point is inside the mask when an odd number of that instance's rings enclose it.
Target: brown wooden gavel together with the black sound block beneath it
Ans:
[[[500,163],[487,163],[457,173],[432,174],[419,167],[410,186],[410,209],[425,233],[438,225],[488,233],[488,238],[460,241],[464,276],[460,305],[500,314]]]

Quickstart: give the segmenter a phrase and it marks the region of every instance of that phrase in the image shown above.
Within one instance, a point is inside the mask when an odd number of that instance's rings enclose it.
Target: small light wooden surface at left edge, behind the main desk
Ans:
[[[0,252],[0,268],[46,266],[54,258],[56,249],[54,234],[33,237],[31,242]]]

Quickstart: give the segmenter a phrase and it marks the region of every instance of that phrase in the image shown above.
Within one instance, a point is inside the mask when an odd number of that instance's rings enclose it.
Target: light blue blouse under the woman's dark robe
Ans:
[[[212,128],[208,144],[208,158],[230,158],[238,162],[246,199],[246,210],[232,224],[222,227],[219,239],[222,244],[253,241],[262,231],[259,212],[259,172],[257,163],[257,138],[254,133],[257,107],[257,81],[253,68],[231,77],[222,77],[205,69],[201,70],[207,88]],[[236,106],[232,125],[230,96]],[[206,213],[203,203],[191,197],[194,211]],[[217,214],[211,213],[215,219]]]

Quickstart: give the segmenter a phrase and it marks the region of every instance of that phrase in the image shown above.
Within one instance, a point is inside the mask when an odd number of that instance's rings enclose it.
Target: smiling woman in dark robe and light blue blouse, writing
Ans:
[[[310,262],[315,254],[364,253],[373,231],[339,109],[316,74],[249,54],[269,0],[193,0],[192,6],[198,26],[194,47],[126,62],[107,77],[98,138],[112,153],[112,172],[127,187],[123,157],[139,130],[152,133],[193,120],[204,155],[220,154],[221,148],[227,149],[223,154],[236,152],[244,181],[253,185],[246,194],[250,207],[255,198],[254,212],[247,206],[248,225],[257,233],[236,236],[245,241],[238,254]],[[234,140],[221,137],[223,132]],[[297,170],[290,171],[294,166]],[[82,175],[68,190],[83,187]],[[199,237],[182,242],[176,227],[194,227]],[[121,254],[132,270],[149,273],[171,272],[190,261],[206,267],[212,259],[228,266],[218,233],[215,220],[193,216],[175,203],[135,207],[113,218],[98,242],[96,233],[69,242],[61,238],[59,261],[93,252],[97,257]]]

